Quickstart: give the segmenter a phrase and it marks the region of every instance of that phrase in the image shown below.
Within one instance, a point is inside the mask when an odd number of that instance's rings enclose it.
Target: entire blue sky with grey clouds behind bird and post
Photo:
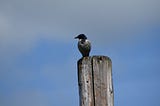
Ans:
[[[73,38],[112,59],[115,106],[160,106],[157,0],[1,0],[0,106],[78,106]]]

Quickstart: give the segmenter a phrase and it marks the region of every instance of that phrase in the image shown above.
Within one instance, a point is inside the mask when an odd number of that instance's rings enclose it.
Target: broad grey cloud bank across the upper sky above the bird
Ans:
[[[40,38],[66,41],[78,33],[98,43],[123,42],[160,23],[158,4],[157,0],[1,1],[1,54],[30,50]]]

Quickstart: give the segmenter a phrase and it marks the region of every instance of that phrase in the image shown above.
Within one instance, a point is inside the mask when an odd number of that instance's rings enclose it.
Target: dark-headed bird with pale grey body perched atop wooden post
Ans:
[[[78,39],[78,49],[81,52],[82,57],[88,57],[91,51],[91,43],[87,39],[86,35],[79,34],[75,39]]]

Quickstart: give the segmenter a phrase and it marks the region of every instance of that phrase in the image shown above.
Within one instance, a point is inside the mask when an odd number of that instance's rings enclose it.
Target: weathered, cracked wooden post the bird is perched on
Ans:
[[[77,64],[80,106],[114,106],[110,58],[83,57]]]

